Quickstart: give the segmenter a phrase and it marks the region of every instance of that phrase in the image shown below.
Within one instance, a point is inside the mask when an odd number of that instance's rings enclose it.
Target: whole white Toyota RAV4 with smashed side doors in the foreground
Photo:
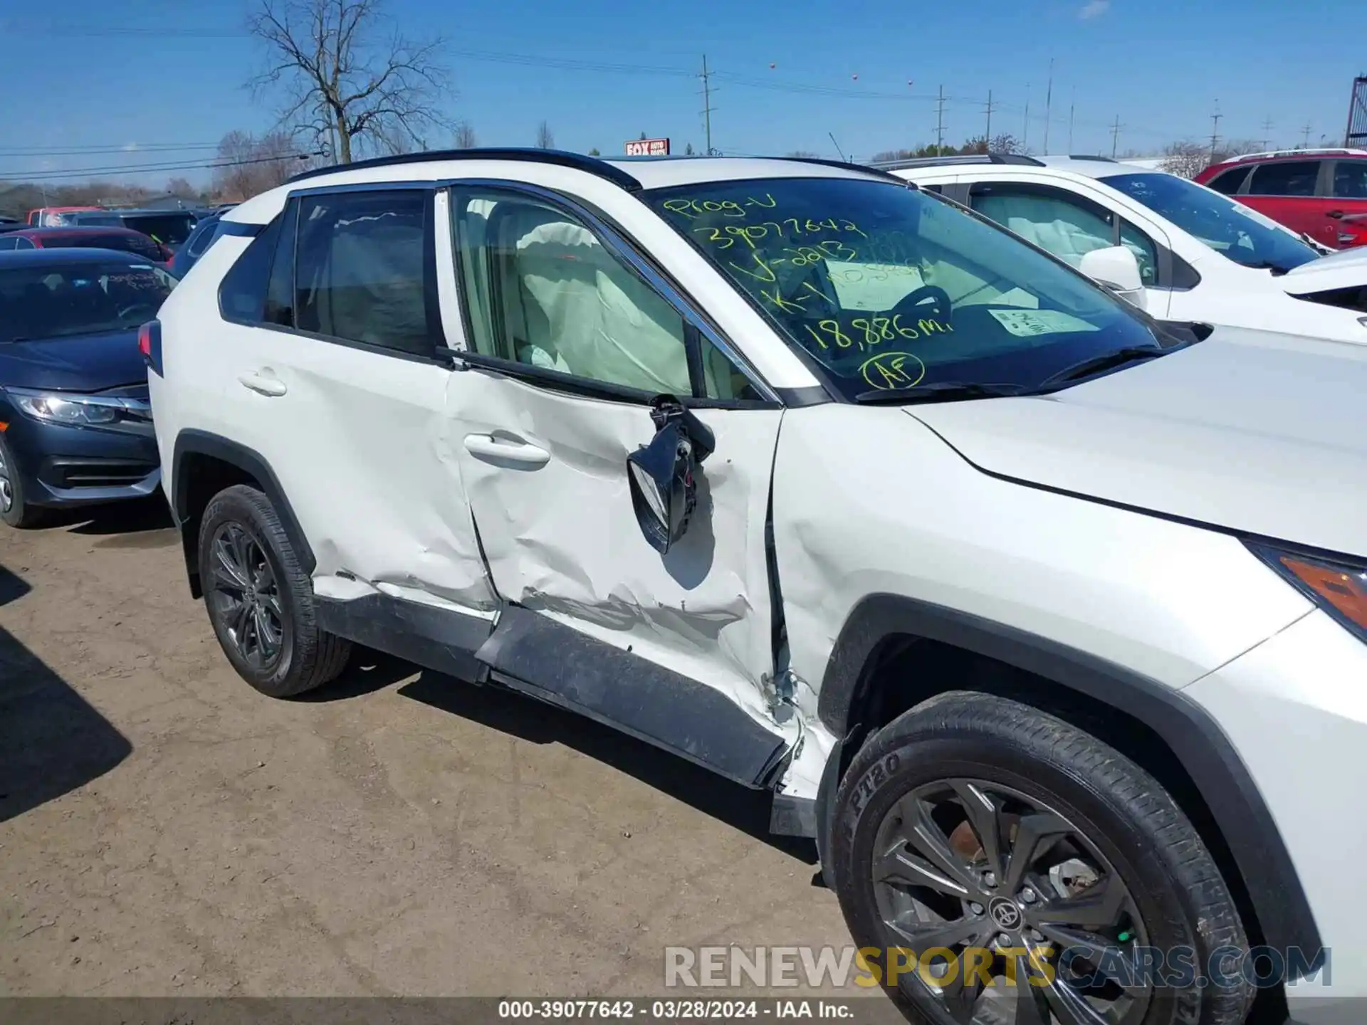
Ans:
[[[1367,348],[861,168],[541,150],[258,195],[142,344],[257,690],[355,642],[771,790],[913,1017],[1359,1017]]]

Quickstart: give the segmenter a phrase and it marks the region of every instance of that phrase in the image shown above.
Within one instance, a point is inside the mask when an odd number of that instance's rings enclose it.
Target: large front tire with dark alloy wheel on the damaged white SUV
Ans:
[[[1252,1003],[1240,958],[1213,962],[1248,939],[1191,821],[1133,761],[1036,708],[954,692],[905,712],[846,771],[831,849],[858,946],[915,951],[891,985],[874,959],[912,1021],[1236,1025]],[[917,970],[932,950],[943,968]],[[1211,968],[1223,979],[1200,985]]]

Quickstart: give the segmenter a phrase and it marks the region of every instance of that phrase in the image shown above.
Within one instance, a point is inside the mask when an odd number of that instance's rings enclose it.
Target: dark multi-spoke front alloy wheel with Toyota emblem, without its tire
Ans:
[[[1096,845],[1046,802],[986,780],[939,780],[893,805],[874,851],[890,946],[921,957],[938,948],[925,970],[908,957],[898,977],[932,1020],[1143,1020],[1151,980],[1126,970],[1148,943],[1135,899]]]

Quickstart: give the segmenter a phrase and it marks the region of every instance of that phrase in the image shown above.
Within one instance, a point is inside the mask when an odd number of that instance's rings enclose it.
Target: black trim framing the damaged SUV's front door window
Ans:
[[[588,204],[569,197],[563,193],[526,182],[513,182],[498,178],[466,178],[444,179],[437,183],[450,197],[454,191],[502,191],[519,198],[529,198],[547,204],[582,221],[595,232],[599,242],[608,253],[621,258],[632,271],[655,292],[663,298],[684,321],[684,346],[689,366],[689,385],[693,395],[677,396],[690,409],[778,409],[783,406],[779,394],[764,380],[749,359],[731,344],[730,339],[708,318],[701,308],[653,260],[645,256],[640,246],[621,226],[611,220],[601,210]],[[451,217],[451,265],[457,277],[457,294],[461,298],[461,324],[465,329],[463,348],[452,348],[455,358],[472,366],[483,368],[507,377],[525,379],[528,383],[539,384],[554,391],[567,391],[589,398],[606,398],[612,400],[649,405],[659,392],[629,388],[619,384],[599,381],[592,377],[560,373],[539,366],[504,359],[496,355],[476,353],[469,347],[474,338],[473,323],[470,320],[470,303],[466,301],[465,268],[461,258],[461,239],[457,227],[457,204],[448,200],[448,216]],[[760,399],[709,399],[705,398],[705,384],[703,381],[701,340],[707,339],[722,353],[749,381],[763,398]]]

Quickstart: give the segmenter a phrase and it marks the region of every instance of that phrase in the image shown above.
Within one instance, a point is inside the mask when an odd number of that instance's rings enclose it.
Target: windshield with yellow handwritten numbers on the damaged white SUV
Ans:
[[[1137,312],[961,206],[852,178],[645,193],[846,398],[1032,390],[1156,339]]]

